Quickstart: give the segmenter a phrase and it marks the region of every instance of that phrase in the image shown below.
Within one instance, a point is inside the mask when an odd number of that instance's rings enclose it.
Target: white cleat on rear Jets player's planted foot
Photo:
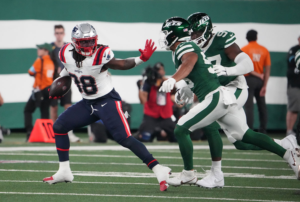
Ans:
[[[196,182],[196,186],[204,188],[222,188],[224,186],[224,176],[222,171],[206,170],[206,177]]]

